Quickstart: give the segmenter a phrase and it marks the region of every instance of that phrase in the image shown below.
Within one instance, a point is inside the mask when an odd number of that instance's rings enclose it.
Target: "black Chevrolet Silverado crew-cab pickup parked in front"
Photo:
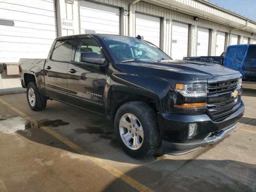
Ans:
[[[20,59],[32,110],[48,99],[106,116],[134,158],[184,154],[234,130],[244,114],[241,74],[218,64],[172,60],[137,38],[56,38],[47,59]]]

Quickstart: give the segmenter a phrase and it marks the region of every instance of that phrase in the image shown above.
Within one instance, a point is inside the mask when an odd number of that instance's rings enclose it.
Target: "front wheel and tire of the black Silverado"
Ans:
[[[144,159],[160,148],[156,112],[144,102],[123,104],[116,112],[114,128],[122,149],[133,158]]]

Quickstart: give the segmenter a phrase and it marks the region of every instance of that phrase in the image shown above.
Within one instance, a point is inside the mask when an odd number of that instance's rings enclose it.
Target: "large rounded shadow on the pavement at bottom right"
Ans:
[[[256,165],[233,160],[158,160],[126,172],[144,186],[159,192],[253,192],[256,191]],[[162,170],[161,167],[166,168]],[[114,191],[120,179],[103,191]],[[132,191],[124,188],[122,191]]]

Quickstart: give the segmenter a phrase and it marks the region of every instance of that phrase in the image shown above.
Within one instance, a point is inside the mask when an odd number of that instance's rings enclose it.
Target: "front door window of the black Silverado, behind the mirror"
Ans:
[[[76,47],[74,62],[81,62],[80,56],[81,56],[81,53],[84,53],[84,52],[94,52],[94,53],[97,53],[100,57],[101,50],[98,43],[94,39],[92,38],[79,39],[78,45]]]

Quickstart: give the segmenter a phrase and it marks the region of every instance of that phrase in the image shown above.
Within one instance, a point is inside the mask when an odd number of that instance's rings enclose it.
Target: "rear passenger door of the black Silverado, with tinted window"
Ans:
[[[67,69],[72,55],[74,39],[56,41],[50,59],[44,65],[45,89],[48,96],[67,101]]]

